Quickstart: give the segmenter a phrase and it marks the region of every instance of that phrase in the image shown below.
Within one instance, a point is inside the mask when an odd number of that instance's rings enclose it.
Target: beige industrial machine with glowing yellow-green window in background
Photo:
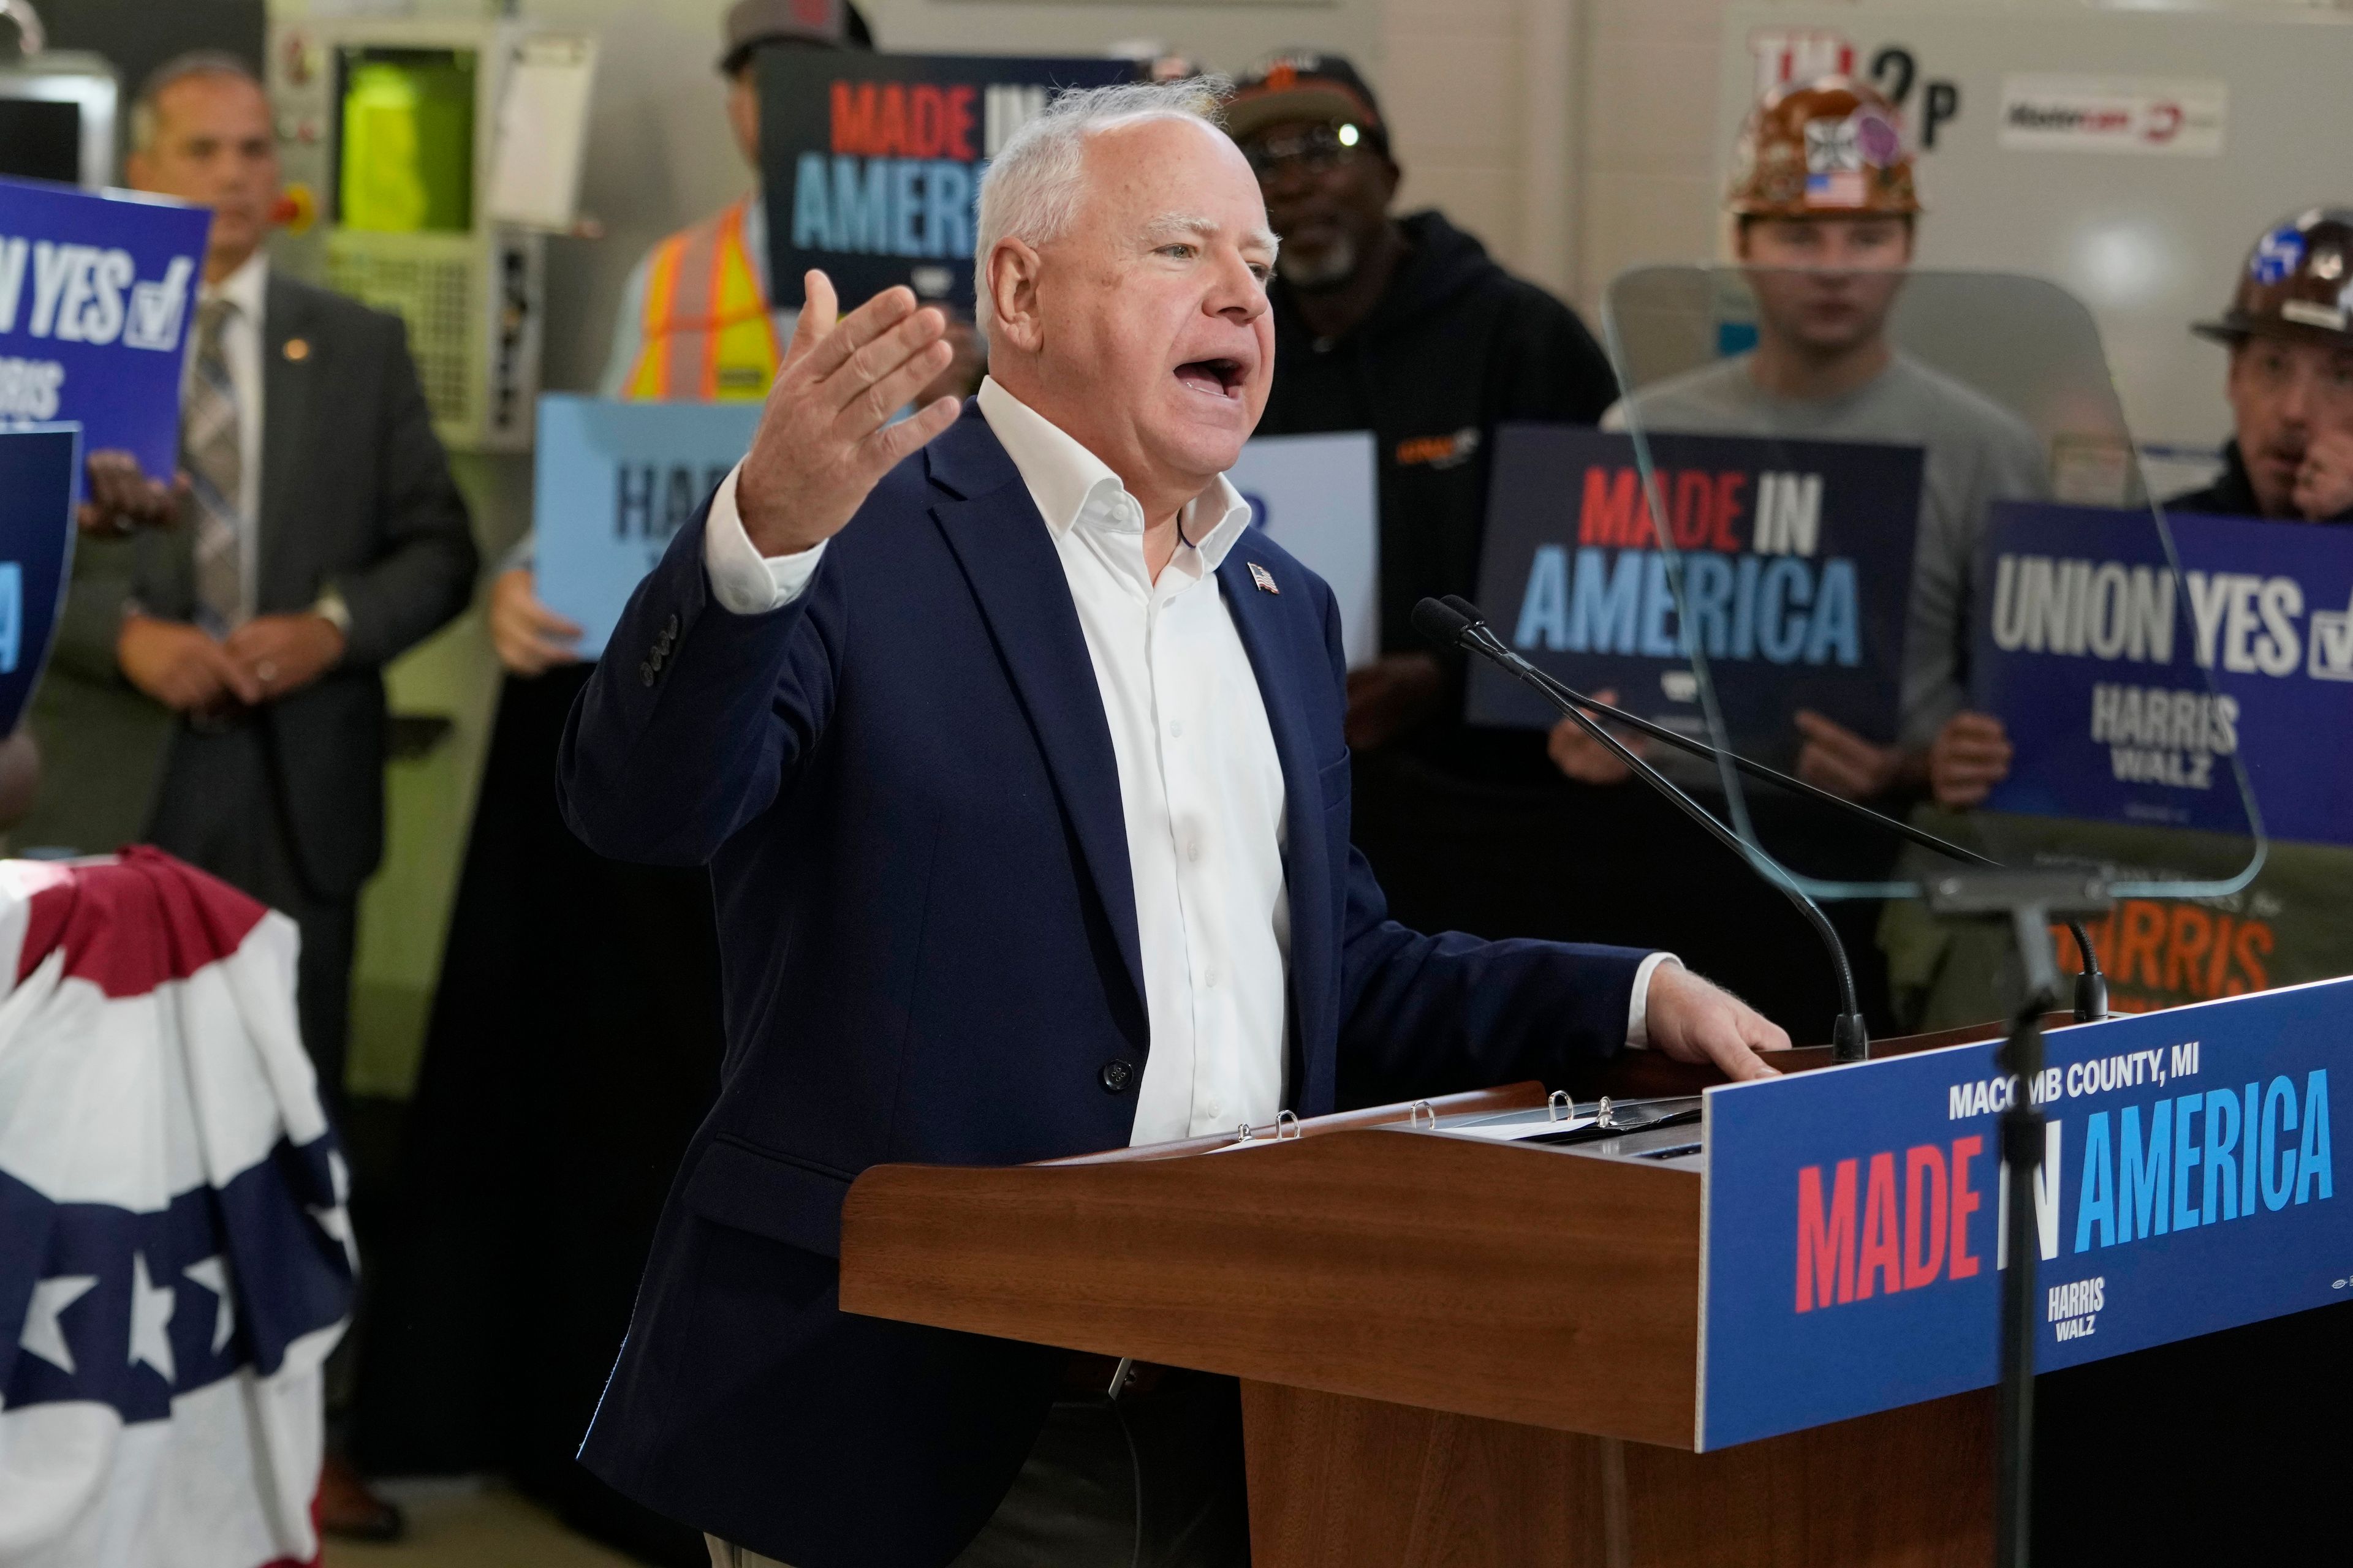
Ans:
[[[409,327],[433,425],[522,451],[548,233],[576,221],[595,40],[501,21],[273,28],[287,270]]]

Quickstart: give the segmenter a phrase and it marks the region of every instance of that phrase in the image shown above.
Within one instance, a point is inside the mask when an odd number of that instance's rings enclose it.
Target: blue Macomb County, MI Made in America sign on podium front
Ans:
[[[1706,1093],[1704,1448],[1995,1382],[1993,1053]],[[2038,1371],[2353,1298],[2329,1105],[2348,1067],[2353,980],[2049,1034]]]

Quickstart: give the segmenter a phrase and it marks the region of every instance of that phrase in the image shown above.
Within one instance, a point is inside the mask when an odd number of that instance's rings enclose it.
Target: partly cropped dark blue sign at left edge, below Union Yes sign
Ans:
[[[33,701],[73,569],[80,425],[0,430],[0,736]]]

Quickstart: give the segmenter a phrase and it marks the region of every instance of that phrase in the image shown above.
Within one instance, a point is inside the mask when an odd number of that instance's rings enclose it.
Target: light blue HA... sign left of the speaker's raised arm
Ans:
[[[605,651],[628,595],[760,428],[758,402],[539,400],[532,527],[541,602]]]

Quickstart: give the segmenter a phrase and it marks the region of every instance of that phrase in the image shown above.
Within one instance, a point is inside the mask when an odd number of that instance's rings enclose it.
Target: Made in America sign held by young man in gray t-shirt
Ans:
[[[1732,743],[1772,750],[1800,708],[1892,741],[1920,449],[1652,435],[1649,451],[1692,639]],[[1497,430],[1480,607],[1555,679],[1614,686],[1631,712],[1699,731],[1699,682],[1633,437]],[[1478,661],[1468,712],[1475,724],[1555,717]]]

